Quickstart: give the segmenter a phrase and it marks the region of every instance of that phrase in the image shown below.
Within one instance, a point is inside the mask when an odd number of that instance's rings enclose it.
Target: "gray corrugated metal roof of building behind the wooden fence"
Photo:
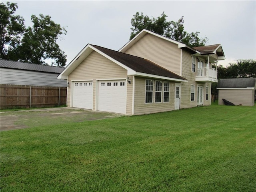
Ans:
[[[10,68],[10,69],[40,71],[40,72],[48,72],[48,73],[58,73],[58,74],[60,74],[64,70],[63,67],[24,63],[24,62],[17,62],[17,61],[4,60],[4,59],[0,60],[0,67]]]

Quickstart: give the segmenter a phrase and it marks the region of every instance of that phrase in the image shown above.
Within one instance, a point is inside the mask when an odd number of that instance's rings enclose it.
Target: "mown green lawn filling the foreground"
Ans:
[[[1,132],[1,192],[255,192],[256,106]]]

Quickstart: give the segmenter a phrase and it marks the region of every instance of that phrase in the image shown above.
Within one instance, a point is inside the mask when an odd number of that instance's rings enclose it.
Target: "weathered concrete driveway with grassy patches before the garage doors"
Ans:
[[[0,129],[6,131],[36,126],[54,126],[118,116],[124,116],[124,114],[68,107],[0,112]]]

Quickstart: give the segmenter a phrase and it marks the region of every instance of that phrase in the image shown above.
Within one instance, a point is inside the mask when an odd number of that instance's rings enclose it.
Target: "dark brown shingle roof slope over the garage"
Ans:
[[[175,74],[174,72],[167,70],[166,68],[163,68],[162,66],[159,66],[158,64],[155,64],[150,60],[133,56],[130,54],[110,50],[110,49],[96,46],[96,45],[91,45],[91,46],[94,46],[101,52],[107,54],[108,56],[112,57],[113,59],[126,65],[127,67],[131,68],[136,72],[186,80],[185,78]]]

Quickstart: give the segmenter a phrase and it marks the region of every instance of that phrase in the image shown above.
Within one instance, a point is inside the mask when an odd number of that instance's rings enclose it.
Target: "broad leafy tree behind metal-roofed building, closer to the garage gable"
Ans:
[[[17,4],[14,4],[13,6],[18,8]],[[39,17],[32,15],[31,20],[33,26],[24,28],[20,35],[22,37],[19,41],[16,41],[14,46],[10,47],[3,44],[4,49],[6,49],[5,58],[43,65],[47,65],[45,62],[46,59],[52,59],[52,65],[65,66],[66,55],[60,50],[56,41],[60,35],[66,34],[66,29],[62,28],[60,24],[56,24],[52,21],[51,17],[48,15],[44,16],[43,14],[40,14]],[[7,33],[9,33],[8,30]],[[2,58],[4,58],[3,56],[4,54],[2,55],[1,53]]]

